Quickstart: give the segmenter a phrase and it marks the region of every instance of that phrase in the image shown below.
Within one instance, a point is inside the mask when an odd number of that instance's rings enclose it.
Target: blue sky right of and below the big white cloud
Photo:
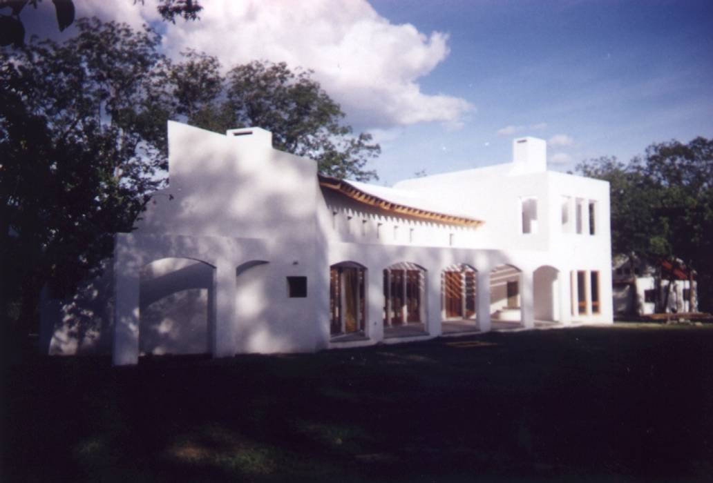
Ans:
[[[568,136],[571,144],[548,149],[550,159],[561,153],[555,170],[713,137],[713,2],[371,4],[394,23],[448,33],[448,57],[421,86],[474,106],[460,129],[405,126],[384,142],[375,166],[387,182],[510,160],[513,135],[497,133],[507,126],[522,126],[514,135]]]

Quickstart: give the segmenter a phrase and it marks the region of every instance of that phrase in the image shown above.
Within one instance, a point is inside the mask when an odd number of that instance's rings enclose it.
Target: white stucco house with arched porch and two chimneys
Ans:
[[[501,165],[394,187],[318,175],[260,128],[168,125],[169,176],[101,281],[43,309],[48,353],[309,352],[612,321],[607,182]]]

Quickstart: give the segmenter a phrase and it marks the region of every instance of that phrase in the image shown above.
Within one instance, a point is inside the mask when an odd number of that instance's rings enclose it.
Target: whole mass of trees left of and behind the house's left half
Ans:
[[[149,28],[75,25],[63,43],[0,48],[0,313],[22,332],[41,288],[71,294],[165,185],[169,119],[260,126],[327,175],[376,177],[365,165],[379,145],[352,132],[309,71],[253,61],[224,74],[203,53],[170,61]]]

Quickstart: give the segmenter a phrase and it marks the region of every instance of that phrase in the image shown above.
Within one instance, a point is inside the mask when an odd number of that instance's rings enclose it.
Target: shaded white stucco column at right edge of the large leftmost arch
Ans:
[[[215,318],[211,324],[213,357],[235,355],[235,266],[228,261],[215,269]]]

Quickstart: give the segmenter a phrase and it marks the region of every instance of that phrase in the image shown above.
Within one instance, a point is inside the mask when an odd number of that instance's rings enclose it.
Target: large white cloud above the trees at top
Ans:
[[[83,14],[132,26],[157,16],[151,0],[143,7],[130,0],[86,4]],[[391,24],[366,0],[204,1],[202,6],[200,21],[163,24],[169,56],[193,48],[217,56],[225,68],[268,60],[312,69],[359,127],[429,121],[457,126],[472,108],[463,98],[423,93],[418,83],[448,56],[448,35]]]

